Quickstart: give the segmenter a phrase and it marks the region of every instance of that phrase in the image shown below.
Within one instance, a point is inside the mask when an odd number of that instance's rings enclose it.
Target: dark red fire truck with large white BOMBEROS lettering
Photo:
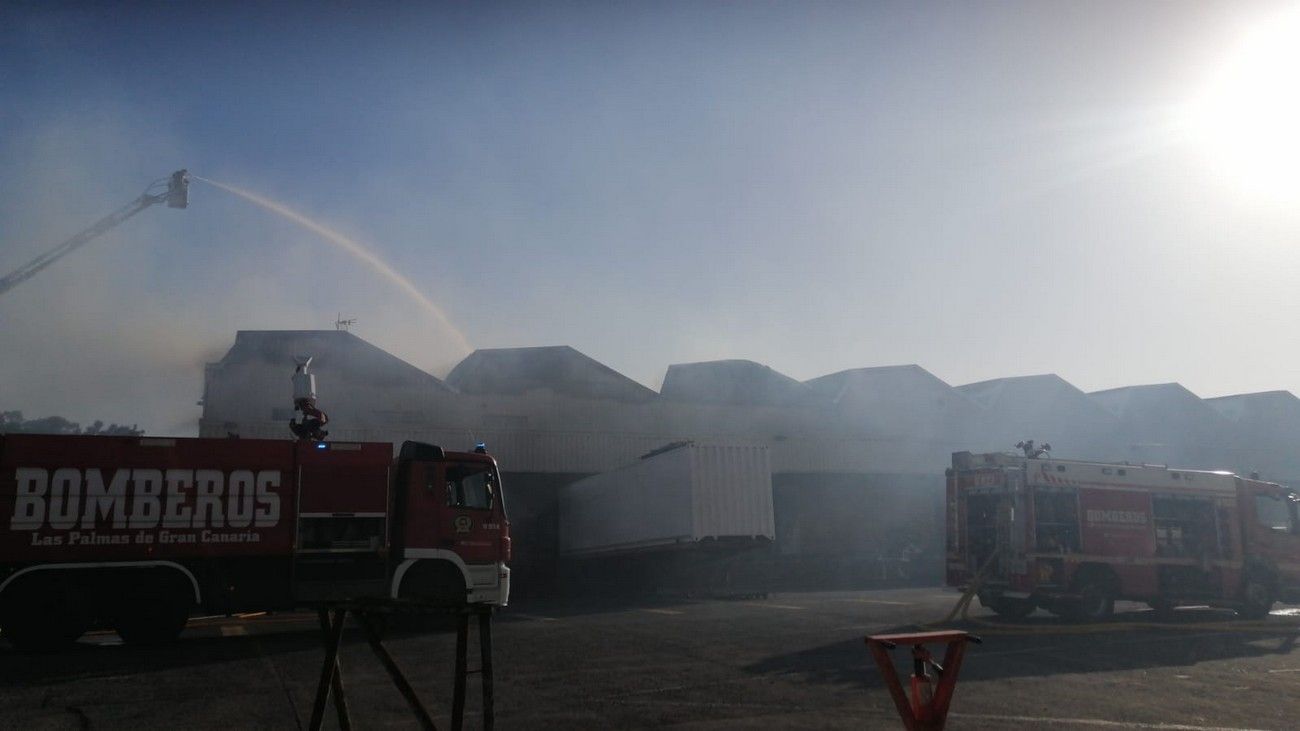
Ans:
[[[504,605],[497,463],[406,442],[0,436],[0,628],[176,637],[194,613]]]

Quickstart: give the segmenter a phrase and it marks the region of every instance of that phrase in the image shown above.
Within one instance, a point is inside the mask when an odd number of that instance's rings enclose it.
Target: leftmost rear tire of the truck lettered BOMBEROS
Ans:
[[[90,628],[84,597],[62,576],[34,575],[5,591],[0,627],[22,652],[49,652],[77,641]]]

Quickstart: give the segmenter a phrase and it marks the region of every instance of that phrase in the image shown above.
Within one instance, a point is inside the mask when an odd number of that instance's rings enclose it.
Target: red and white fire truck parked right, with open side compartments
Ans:
[[[1115,600],[1260,618],[1300,601],[1296,492],[1228,472],[953,454],[948,583],[980,604],[1101,619]]]

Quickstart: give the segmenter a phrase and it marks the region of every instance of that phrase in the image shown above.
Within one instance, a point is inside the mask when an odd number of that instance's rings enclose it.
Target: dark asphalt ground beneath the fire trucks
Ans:
[[[956,600],[923,588],[512,606],[494,624],[497,724],[901,728],[863,637],[918,628]],[[966,656],[949,728],[1300,727],[1295,610],[1248,623],[1209,609],[1167,620],[1141,605],[1118,609],[1112,623],[1071,626],[1041,613],[998,622],[976,605],[957,626],[984,644]],[[450,727],[454,635],[386,645],[439,728]],[[894,654],[906,675],[904,650]],[[0,727],[298,728],[321,659],[312,614],[198,619],[162,648],[125,646],[112,633],[55,654],[4,646]],[[348,631],[342,665],[355,727],[416,727],[360,631]],[[477,691],[471,676],[468,727],[482,723]]]

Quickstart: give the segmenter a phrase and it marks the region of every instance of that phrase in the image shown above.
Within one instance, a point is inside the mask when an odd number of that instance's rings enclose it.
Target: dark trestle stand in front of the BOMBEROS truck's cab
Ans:
[[[450,614],[456,618],[456,676],[451,704],[451,727],[456,731],[464,728],[465,679],[471,672],[478,672],[481,674],[480,679],[482,685],[484,728],[490,731],[494,724],[491,674],[493,607],[488,605],[471,605],[456,609],[433,606],[416,606],[412,609],[422,614]],[[347,623],[348,613],[352,613],[352,617],[356,618],[361,631],[365,632],[365,639],[370,645],[370,650],[374,653],[374,657],[378,658],[384,670],[389,672],[393,685],[396,687],[398,692],[402,693],[402,697],[406,698],[407,705],[411,706],[411,713],[413,713],[416,721],[420,722],[420,727],[430,731],[437,728],[433,723],[433,718],[429,715],[429,711],[424,708],[424,704],[416,695],[415,688],[411,687],[411,683],[406,679],[406,675],[402,672],[396,661],[393,659],[387,648],[384,646],[380,630],[374,624],[374,617],[377,614],[390,614],[393,610],[394,606],[391,602],[347,602],[326,605],[317,609],[317,615],[320,617],[321,623],[321,636],[325,644],[325,662],[321,666],[320,682],[316,684],[316,700],[312,704],[312,719],[308,724],[311,731],[320,731],[321,724],[325,722],[325,704],[332,696],[334,698],[334,711],[338,715],[338,727],[343,731],[351,731],[352,728],[352,718],[348,713],[347,696],[343,687],[343,670],[339,667],[338,662],[338,650],[343,641],[343,627]],[[330,615],[333,615],[333,618]],[[469,670],[467,667],[471,617],[478,618],[478,670]]]

